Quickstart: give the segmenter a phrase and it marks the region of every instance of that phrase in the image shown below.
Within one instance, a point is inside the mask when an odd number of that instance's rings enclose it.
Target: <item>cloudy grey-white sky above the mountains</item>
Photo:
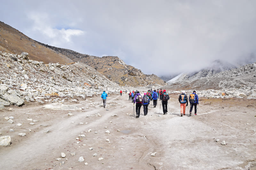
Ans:
[[[0,20],[28,37],[118,56],[158,76],[256,52],[255,0],[0,0]]]

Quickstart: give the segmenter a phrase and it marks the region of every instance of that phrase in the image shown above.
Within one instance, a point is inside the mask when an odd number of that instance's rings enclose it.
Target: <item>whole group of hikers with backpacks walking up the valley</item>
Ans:
[[[122,96],[122,90],[120,91],[120,94]],[[125,90],[125,94],[127,94],[127,90]],[[140,94],[139,91],[132,91],[128,93],[129,95],[129,101],[131,100],[131,102],[133,103],[133,111],[134,111],[134,105],[136,103],[135,106],[135,110],[136,110],[136,118],[140,117],[140,108],[141,106],[143,106],[143,112],[144,112],[144,116],[148,115],[148,106],[150,104],[150,101],[153,100],[153,103],[151,103],[151,105],[153,104],[154,107],[157,106],[157,99],[160,99],[161,101],[161,105],[163,107],[163,113],[164,115],[167,115],[167,105],[168,105],[168,100],[170,99],[168,93],[166,93],[166,90],[148,90],[147,92],[144,93],[144,95],[142,96]],[[103,91],[103,93],[101,94],[101,98],[103,100],[103,107],[105,108],[106,106],[106,97],[107,97],[107,93],[105,91]],[[182,93],[179,95],[179,102],[180,102],[180,116],[186,115],[186,107],[188,106],[188,101],[190,103],[190,110],[189,110],[189,116],[191,116],[192,114],[192,110],[193,107],[195,108],[195,115],[196,111],[197,111],[197,105],[198,105],[198,96],[196,94],[196,91],[193,91],[192,94],[188,96],[185,94],[185,91],[182,91]],[[160,105],[160,109],[161,109],[161,105]],[[169,107],[169,105],[168,105]],[[160,110],[159,110],[160,113]]]

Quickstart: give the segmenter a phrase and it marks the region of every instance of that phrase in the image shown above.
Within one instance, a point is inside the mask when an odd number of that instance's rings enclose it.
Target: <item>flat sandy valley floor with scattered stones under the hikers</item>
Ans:
[[[0,147],[0,166],[4,170],[256,169],[255,102],[199,96],[197,115],[180,117],[178,95],[172,94],[168,115],[162,114],[158,100],[156,108],[138,119],[128,95],[109,94],[106,108],[100,107],[99,96],[50,105],[11,105],[0,110],[1,137],[11,137],[10,145]]]

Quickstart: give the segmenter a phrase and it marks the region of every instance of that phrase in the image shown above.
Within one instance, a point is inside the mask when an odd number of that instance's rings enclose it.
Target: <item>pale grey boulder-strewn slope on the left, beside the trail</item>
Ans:
[[[69,65],[28,59],[28,53],[0,52],[0,108],[29,102],[85,100],[103,90],[117,93],[120,86],[94,68],[74,62]]]

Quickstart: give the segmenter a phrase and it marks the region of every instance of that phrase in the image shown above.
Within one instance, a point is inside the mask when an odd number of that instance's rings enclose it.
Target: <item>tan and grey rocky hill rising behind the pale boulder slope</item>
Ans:
[[[38,42],[39,43],[39,42]],[[83,62],[95,70],[103,74],[109,80],[114,81],[118,85],[127,86],[147,86],[147,85],[165,85],[164,80],[156,75],[146,75],[141,70],[138,70],[131,65],[127,65],[123,60],[117,56],[103,56],[97,57],[87,54],[80,54],[78,52],[57,48],[49,45],[44,45],[51,48],[62,55],[68,56],[73,61]]]

